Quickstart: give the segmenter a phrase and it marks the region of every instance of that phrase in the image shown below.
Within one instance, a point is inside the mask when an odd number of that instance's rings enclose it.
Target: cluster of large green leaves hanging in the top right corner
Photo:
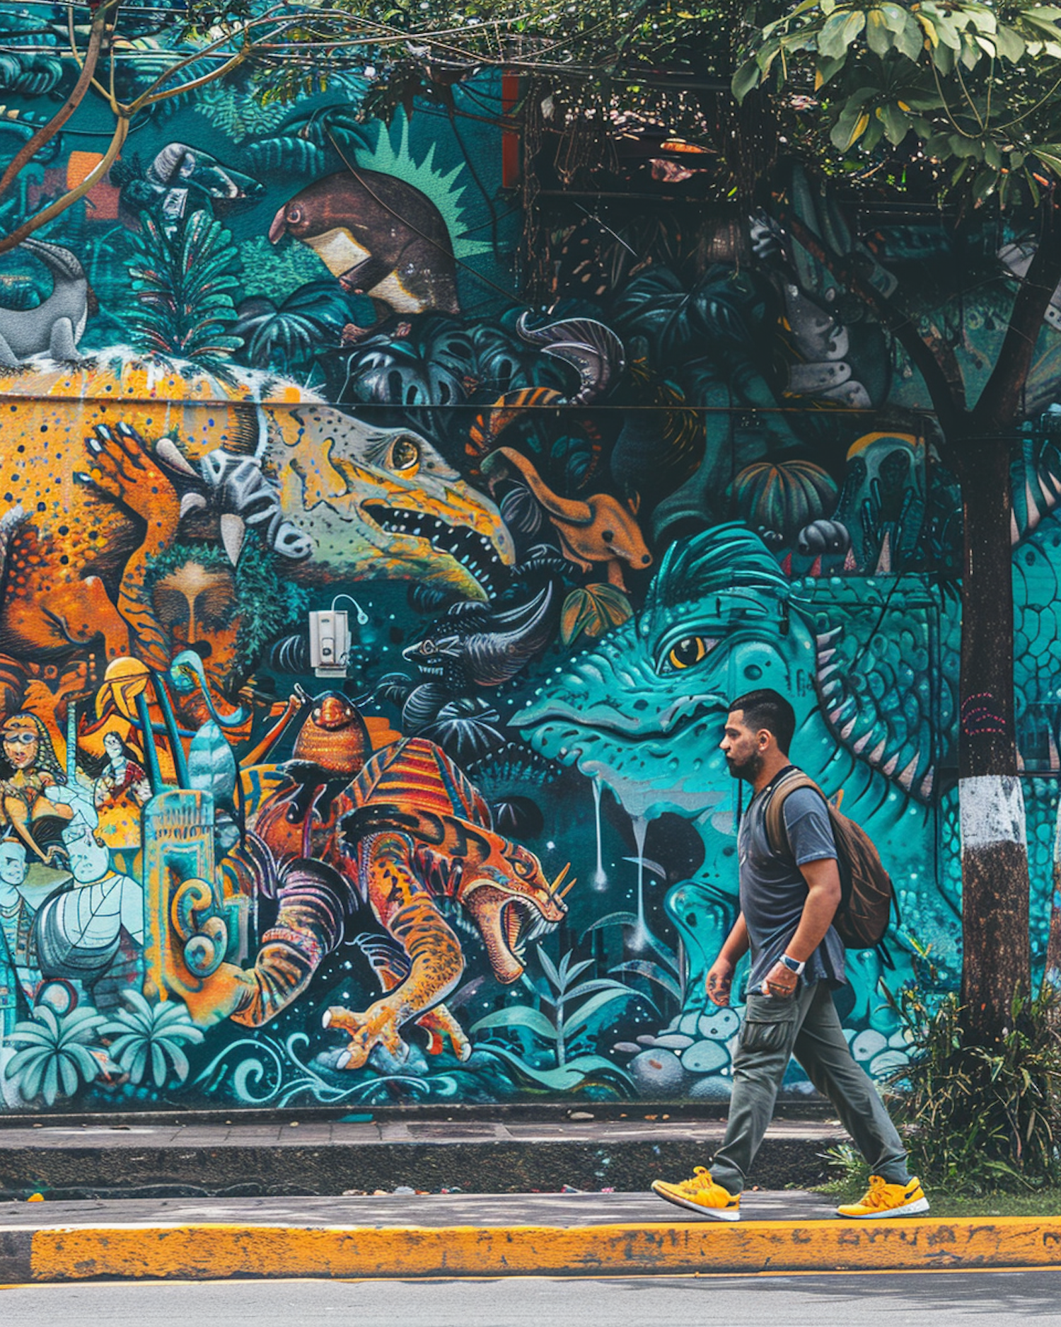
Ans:
[[[745,16],[733,93],[773,93],[822,169],[1037,206],[1061,173],[1061,8],[804,0]]]

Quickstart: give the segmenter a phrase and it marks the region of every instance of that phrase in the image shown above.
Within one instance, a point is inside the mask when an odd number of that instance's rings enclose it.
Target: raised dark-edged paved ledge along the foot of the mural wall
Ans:
[[[365,1112],[346,1120],[182,1124],[62,1123],[0,1127],[0,1200],[271,1197],[355,1189],[438,1193],[645,1190],[686,1176],[719,1147],[723,1120],[595,1119],[590,1109],[541,1120],[415,1119]],[[633,1113],[633,1112],[631,1112]],[[763,1188],[828,1177],[824,1153],[838,1121],[777,1119],[756,1158]]]

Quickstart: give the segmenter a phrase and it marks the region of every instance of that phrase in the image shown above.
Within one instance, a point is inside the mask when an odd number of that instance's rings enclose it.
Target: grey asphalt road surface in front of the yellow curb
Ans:
[[[928,1316],[931,1315],[931,1318]],[[1061,1327],[1061,1269],[808,1277],[94,1282],[0,1289],[4,1327]]]

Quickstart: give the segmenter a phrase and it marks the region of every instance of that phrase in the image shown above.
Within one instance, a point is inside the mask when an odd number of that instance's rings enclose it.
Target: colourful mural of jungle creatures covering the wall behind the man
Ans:
[[[3,20],[5,157],[72,78],[41,13]],[[3,1108],[724,1099],[740,1006],[703,975],[747,792],[718,740],[755,686],[895,878],[837,998],[901,1066],[887,991],[960,971],[962,548],[902,350],[664,158],[627,173],[658,204],[540,202],[532,297],[489,76],[390,126],[353,76],[253,80],[154,107],[0,259]],[[106,133],[86,104],[0,223]],[[1032,239],[789,195],[987,370]],[[1060,328],[1013,450],[1040,967]]]

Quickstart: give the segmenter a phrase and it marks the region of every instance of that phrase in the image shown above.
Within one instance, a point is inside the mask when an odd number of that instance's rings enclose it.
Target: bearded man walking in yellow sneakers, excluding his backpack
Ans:
[[[796,788],[781,807],[788,852],[775,852],[765,809],[773,786],[792,768],[796,715],[777,691],[759,690],[731,706],[720,747],[729,774],[755,796],[737,835],[740,914],[707,974],[707,995],[729,1003],[737,962],[752,951],[744,1027],[733,1056],[733,1089],[725,1141],[708,1172],[653,1190],[667,1202],[718,1221],[740,1220],[740,1192],[773,1115],[792,1055],[836,1107],[870,1165],[870,1188],[842,1217],[898,1217],[928,1210],[906,1168],[895,1125],[863,1070],[854,1062],[833,1005],[842,986],[843,943],[832,926],[840,904],[840,871],[829,811],[814,788]]]

